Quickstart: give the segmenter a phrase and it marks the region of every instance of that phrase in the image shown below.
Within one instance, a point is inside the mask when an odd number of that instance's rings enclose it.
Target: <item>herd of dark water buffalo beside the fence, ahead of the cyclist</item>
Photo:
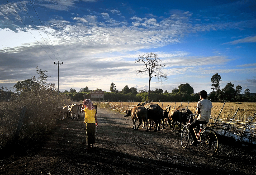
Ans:
[[[181,124],[185,124],[187,122],[188,114],[193,114],[191,110],[184,107],[178,107],[177,109],[170,109],[170,107],[166,110],[163,110],[158,104],[147,103],[147,104],[138,104],[131,110],[125,111],[125,117],[131,116],[133,122],[134,130],[137,130],[143,122],[143,128],[146,128],[146,132],[151,130],[152,123],[155,123],[154,132],[160,131],[161,120],[167,126],[168,123],[172,123],[172,130],[175,125],[179,123],[179,132],[181,132]],[[135,122],[139,120],[139,125],[136,127]],[[149,126],[148,126],[149,121]]]

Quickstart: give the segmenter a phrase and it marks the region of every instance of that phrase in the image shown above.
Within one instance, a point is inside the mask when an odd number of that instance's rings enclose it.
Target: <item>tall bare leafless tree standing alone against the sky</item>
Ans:
[[[157,55],[158,54],[155,54],[153,52],[146,53],[139,56],[138,59],[134,61],[134,64],[136,62],[143,62],[145,64],[145,67],[141,70],[137,70],[135,74],[137,75],[140,74],[141,76],[143,73],[148,73],[149,75],[148,98],[150,94],[150,82],[152,77],[155,77],[156,79],[158,79],[158,82],[161,82],[161,83],[163,79],[165,81],[168,80],[167,74],[164,74],[162,72],[162,69],[165,68],[166,65],[162,63],[162,60],[159,59]]]

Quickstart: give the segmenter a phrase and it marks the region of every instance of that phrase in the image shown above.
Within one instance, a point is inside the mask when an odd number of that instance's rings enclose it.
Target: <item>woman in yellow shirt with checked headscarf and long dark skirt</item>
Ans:
[[[86,143],[88,144],[88,147],[86,149],[91,149],[93,148],[93,144],[95,143],[95,122],[97,127],[99,125],[97,121],[96,110],[90,99],[86,99],[83,101],[81,111],[85,112],[84,123],[86,124]]]

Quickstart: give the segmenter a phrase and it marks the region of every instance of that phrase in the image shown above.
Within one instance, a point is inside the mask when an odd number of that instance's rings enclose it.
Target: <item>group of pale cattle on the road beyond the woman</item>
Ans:
[[[75,118],[77,118],[77,120],[80,118],[81,112],[80,109],[82,108],[82,104],[70,104],[67,106],[61,106],[57,108],[57,112],[59,112],[60,114],[60,118],[64,119],[64,117],[66,116],[66,118],[71,118],[71,120],[75,120]],[[94,108],[96,109],[96,113],[97,113],[97,105],[93,105]]]

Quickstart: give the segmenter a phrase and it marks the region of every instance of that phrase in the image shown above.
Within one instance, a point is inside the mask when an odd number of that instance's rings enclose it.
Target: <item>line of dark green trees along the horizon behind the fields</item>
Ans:
[[[212,82],[212,92],[208,94],[208,99],[212,102],[218,101],[230,101],[230,102],[256,102],[255,94],[251,94],[249,89],[245,89],[244,93],[241,93],[242,86],[238,85],[234,87],[234,84],[229,82],[227,85],[220,89],[221,76],[219,74],[214,74],[211,78]],[[16,93],[28,92],[32,87],[39,86],[39,83],[31,79],[26,79],[23,81],[18,81],[13,88],[16,88]],[[67,95],[73,101],[80,101],[84,99],[86,94],[91,91],[98,91],[100,88],[90,90],[87,86],[81,88],[79,92],[71,88],[69,91],[61,91],[61,94]],[[12,91],[8,91],[6,88],[0,89],[0,99],[2,101],[7,101],[11,96],[15,94]],[[105,101],[163,101],[164,102],[196,102],[199,100],[198,93],[194,93],[193,87],[188,83],[180,84],[178,88],[168,92],[167,90],[162,90],[160,88],[155,88],[155,90],[150,90],[150,98],[148,97],[148,90],[137,90],[135,87],[129,88],[126,85],[121,91],[116,89],[115,84],[112,82],[110,85],[110,92],[104,91]]]

